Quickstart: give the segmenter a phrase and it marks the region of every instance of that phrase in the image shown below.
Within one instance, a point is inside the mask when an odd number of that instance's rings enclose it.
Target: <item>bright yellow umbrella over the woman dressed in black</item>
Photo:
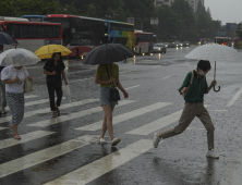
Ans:
[[[72,53],[66,47],[61,45],[47,45],[35,51],[35,54],[38,55],[39,59],[50,59],[55,52],[60,52],[61,55],[69,55]]]

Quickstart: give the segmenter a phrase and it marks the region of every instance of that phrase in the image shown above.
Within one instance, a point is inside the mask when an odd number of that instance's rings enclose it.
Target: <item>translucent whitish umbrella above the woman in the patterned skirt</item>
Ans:
[[[39,58],[35,55],[32,51],[28,51],[23,48],[16,49],[8,49],[0,54],[0,65],[8,66],[8,65],[33,65],[39,62]]]

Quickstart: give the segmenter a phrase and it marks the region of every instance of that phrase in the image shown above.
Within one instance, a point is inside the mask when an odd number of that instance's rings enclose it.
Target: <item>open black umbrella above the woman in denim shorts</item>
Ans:
[[[134,53],[120,44],[101,45],[93,49],[83,60],[84,64],[110,64],[132,58]]]

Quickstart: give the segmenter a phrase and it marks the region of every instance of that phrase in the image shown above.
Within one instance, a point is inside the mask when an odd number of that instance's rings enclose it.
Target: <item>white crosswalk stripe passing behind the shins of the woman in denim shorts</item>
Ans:
[[[121,115],[114,116],[112,124],[124,122],[126,120],[130,120],[130,119],[133,119],[133,118],[136,118],[136,116],[140,116],[140,115],[143,115],[145,113],[155,111],[157,109],[161,109],[161,108],[170,106],[170,104],[172,104],[172,103],[171,102],[158,102],[158,103],[155,103],[155,104],[152,104],[152,106],[147,106],[147,107],[144,107],[144,108],[141,108],[141,109],[128,112],[128,113],[123,113]],[[100,130],[102,127],[102,122],[104,121],[99,121],[99,122],[96,122],[96,123],[93,123],[93,124],[89,124],[89,125],[77,127],[75,130],[97,131],[97,130]]]

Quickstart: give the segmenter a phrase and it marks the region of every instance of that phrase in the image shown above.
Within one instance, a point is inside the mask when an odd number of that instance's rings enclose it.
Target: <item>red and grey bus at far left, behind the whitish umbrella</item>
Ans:
[[[62,45],[62,27],[59,23],[29,22],[26,18],[0,16],[0,32],[10,34],[24,48],[35,52],[45,45]],[[0,45],[0,52],[15,46]]]

